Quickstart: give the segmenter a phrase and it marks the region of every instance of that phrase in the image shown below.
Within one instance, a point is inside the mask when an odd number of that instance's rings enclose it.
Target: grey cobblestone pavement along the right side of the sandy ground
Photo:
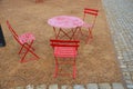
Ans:
[[[102,0],[117,61],[127,89],[133,89],[133,0]]]

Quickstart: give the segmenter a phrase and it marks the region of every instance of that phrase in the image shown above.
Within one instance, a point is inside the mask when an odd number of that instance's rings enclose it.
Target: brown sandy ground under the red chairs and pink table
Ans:
[[[93,30],[94,39],[91,43],[85,44],[85,37],[80,38],[76,79],[62,76],[54,79],[54,58],[49,41],[50,38],[54,38],[54,32],[47,21],[61,14],[82,18],[84,7],[100,10]],[[38,61],[19,62],[20,57],[17,52],[20,47],[8,30],[6,20],[9,20],[18,34],[32,32],[35,36],[37,40],[33,47],[40,57]],[[0,22],[7,42],[6,47],[0,48],[0,85],[2,86],[28,83],[85,85],[88,82],[122,80],[100,0],[44,0],[43,3],[35,3],[33,0],[0,0]],[[85,29],[83,30],[85,32]]]

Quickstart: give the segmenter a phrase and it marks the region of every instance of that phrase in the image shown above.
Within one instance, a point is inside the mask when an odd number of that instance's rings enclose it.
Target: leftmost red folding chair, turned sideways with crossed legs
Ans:
[[[7,20],[7,26],[8,26],[9,30],[11,31],[13,38],[21,46],[21,49],[18,52],[21,56],[20,62],[27,62],[29,60],[38,60],[39,57],[33,52],[34,48],[32,47],[32,43],[35,40],[35,38],[33,37],[33,34],[32,33],[23,33],[21,36],[18,36],[17,32],[12,29],[12,27],[9,23],[8,20]],[[27,59],[25,57],[27,57],[28,53],[33,55],[35,57],[35,59],[33,59],[33,58]]]

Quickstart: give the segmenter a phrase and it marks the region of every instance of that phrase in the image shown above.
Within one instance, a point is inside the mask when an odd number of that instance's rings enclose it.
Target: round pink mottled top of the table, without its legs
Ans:
[[[76,28],[83,26],[83,20],[76,17],[58,16],[48,20],[48,23],[57,28]]]

